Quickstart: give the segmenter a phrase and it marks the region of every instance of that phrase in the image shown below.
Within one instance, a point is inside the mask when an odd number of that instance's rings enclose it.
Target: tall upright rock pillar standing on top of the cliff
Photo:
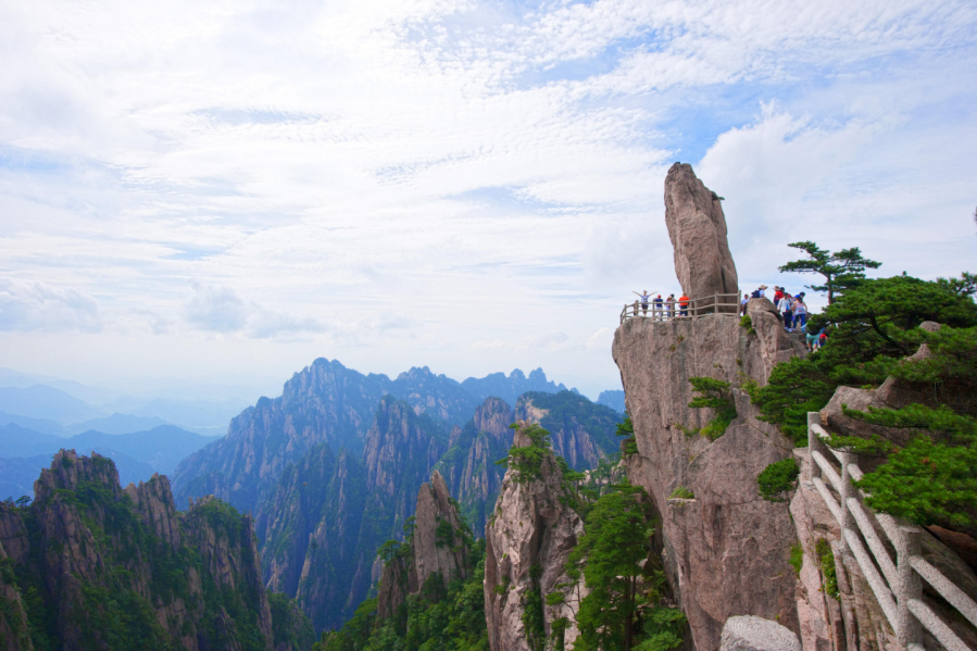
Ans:
[[[723,203],[688,163],[675,163],[665,177],[665,225],[675,249],[675,274],[686,296],[737,293]]]

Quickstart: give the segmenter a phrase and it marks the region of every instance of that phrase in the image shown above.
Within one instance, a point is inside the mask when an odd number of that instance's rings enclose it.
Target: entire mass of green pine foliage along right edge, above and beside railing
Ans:
[[[977,278],[920,280],[906,275],[849,284],[813,327],[828,343],[778,364],[765,387],[748,386],[764,420],[806,445],[806,413],[840,386],[874,388],[887,378],[907,387],[912,403],[844,415],[902,429],[909,442],[836,437],[855,452],[888,454],[860,486],[873,508],[918,524],[977,533]],[[924,322],[941,324],[929,331]],[[926,345],[927,354],[915,356]],[[911,356],[913,355],[913,356]]]

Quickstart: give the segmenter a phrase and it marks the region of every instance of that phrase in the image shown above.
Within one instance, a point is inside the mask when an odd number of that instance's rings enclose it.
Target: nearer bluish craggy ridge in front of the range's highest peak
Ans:
[[[295,597],[316,629],[339,627],[376,578],[376,549],[399,537],[446,447],[442,427],[386,397],[363,458],[317,446],[288,466],[258,513],[270,590]]]

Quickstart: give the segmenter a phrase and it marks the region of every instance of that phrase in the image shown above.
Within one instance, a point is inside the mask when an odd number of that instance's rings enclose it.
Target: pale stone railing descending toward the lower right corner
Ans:
[[[821,414],[809,412],[807,450],[811,462],[805,478],[814,485],[841,526],[841,551],[855,558],[886,618],[895,630],[899,643],[906,651],[924,651],[923,629],[926,628],[949,651],[972,651],[923,602],[923,581],[929,584],[974,626],[977,626],[977,603],[923,559],[922,528],[885,513],[875,513],[864,503],[866,494],[852,484],[852,480],[857,481],[863,476],[855,463],[855,455],[829,448],[825,443],[828,438],[828,433],[821,426]],[[837,459],[840,472],[828,461],[830,458]],[[840,500],[835,499],[831,489]],[[894,560],[889,555],[873,521],[879,524],[894,547]]]

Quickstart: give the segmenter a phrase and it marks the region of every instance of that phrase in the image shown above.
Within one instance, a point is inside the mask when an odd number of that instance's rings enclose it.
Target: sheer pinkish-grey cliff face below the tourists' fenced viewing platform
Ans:
[[[763,385],[773,366],[803,354],[784,331],[766,299],[751,300],[753,333],[734,315],[693,321],[625,322],[614,336],[638,454],[628,477],[642,486],[663,517],[665,567],[699,651],[718,648],[731,615],[757,615],[798,630],[794,573],[788,563],[796,540],[787,504],[760,498],[756,476],[791,454],[792,445],[736,387]],[[691,409],[689,378],[730,383],[737,418],[716,440],[687,436],[711,410]],[[703,413],[705,412],[705,413]],[[678,487],[694,499],[669,499]]]

